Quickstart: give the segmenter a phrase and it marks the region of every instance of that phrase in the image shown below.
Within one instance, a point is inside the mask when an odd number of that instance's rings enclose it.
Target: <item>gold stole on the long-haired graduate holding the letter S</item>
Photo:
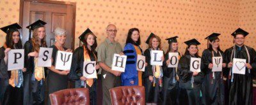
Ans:
[[[38,58],[35,57],[35,79],[37,81],[40,81],[42,79],[45,78],[45,75],[44,75],[44,67],[38,67],[37,66],[37,61],[38,61]]]

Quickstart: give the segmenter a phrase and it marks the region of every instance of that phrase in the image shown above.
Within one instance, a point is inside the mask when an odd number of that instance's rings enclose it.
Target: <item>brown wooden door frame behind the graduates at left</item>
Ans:
[[[76,34],[76,3],[68,2],[68,1],[50,1],[50,0],[20,0],[20,15],[19,15],[19,24],[22,26],[23,22],[23,5],[24,1],[29,1],[29,2],[36,2],[36,3],[51,3],[51,4],[65,4],[65,5],[71,5],[73,8],[73,20],[72,20],[72,44],[71,44],[71,49],[74,51],[74,45],[75,45],[75,34]],[[22,32],[21,32],[22,33]]]

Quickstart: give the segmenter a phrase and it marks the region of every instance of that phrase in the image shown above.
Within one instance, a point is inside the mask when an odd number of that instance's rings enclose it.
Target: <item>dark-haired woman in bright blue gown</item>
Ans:
[[[124,54],[127,55],[125,72],[121,74],[122,85],[142,86],[142,73],[136,69],[137,55],[142,55],[140,48],[140,31],[137,28],[129,29],[124,46]]]

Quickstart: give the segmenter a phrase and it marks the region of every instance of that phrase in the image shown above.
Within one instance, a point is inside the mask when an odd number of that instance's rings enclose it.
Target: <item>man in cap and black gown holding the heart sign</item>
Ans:
[[[256,52],[253,48],[244,45],[244,38],[249,33],[243,29],[237,29],[232,33],[235,45],[225,51],[225,59],[228,67],[228,104],[251,105],[253,102],[253,74],[256,69]],[[231,69],[233,59],[246,59],[245,74],[233,74]]]

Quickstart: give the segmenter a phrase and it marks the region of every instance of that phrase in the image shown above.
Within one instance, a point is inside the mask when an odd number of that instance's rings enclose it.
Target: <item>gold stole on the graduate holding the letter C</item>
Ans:
[[[92,52],[92,53],[93,53],[93,52]],[[96,62],[97,62],[97,57],[96,57],[95,53],[93,53],[93,56],[94,56],[94,58],[95,58],[95,60],[96,60]],[[84,45],[84,61],[91,61],[90,55],[89,55],[89,53],[87,52],[85,45]],[[92,85],[93,85],[93,78],[87,78],[86,84],[87,84],[89,87],[92,87]],[[84,86],[84,87],[86,87],[86,86]]]

